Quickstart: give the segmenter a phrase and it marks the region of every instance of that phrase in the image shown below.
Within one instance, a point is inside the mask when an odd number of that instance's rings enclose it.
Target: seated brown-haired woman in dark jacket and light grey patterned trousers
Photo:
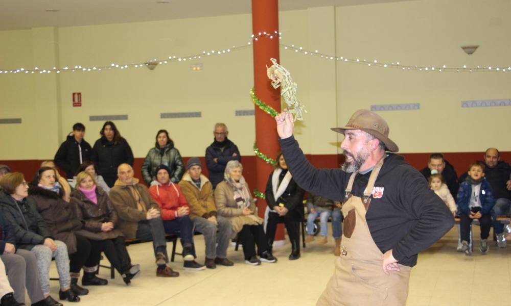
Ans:
[[[14,227],[16,247],[34,253],[39,271],[41,290],[47,304],[61,305],[50,296],[50,265],[55,259],[59,274],[60,299],[72,302],[80,297],[71,290],[69,257],[65,243],[54,240],[50,228],[37,212],[33,199],[28,198],[28,184],[23,174],[9,173],[0,180],[3,192],[0,196],[0,208],[6,222]],[[31,271],[33,273],[34,271]]]

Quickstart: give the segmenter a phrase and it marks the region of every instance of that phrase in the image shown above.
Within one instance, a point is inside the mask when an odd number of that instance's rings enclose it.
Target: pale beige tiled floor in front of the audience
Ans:
[[[475,237],[479,228],[474,226]],[[407,305],[511,305],[511,251],[491,244],[482,256],[475,240],[473,256],[457,253],[456,229],[421,253],[412,269]],[[199,261],[204,260],[202,236],[195,236]],[[180,248],[180,247],[178,247]],[[170,247],[169,247],[170,249]],[[333,272],[333,239],[319,246],[310,243],[297,261],[287,259],[290,246],[276,247],[275,264],[249,266],[243,252],[229,247],[228,258],[233,267],[214,270],[186,271],[182,259],[171,267],[181,275],[177,278],[155,277],[150,243],[128,247],[133,263],[141,264],[142,275],[127,287],[116,274],[108,286],[88,287],[90,293],[78,304],[86,305],[314,305]],[[52,267],[51,275],[57,275]],[[109,273],[103,269],[102,277]],[[58,297],[58,283],[52,282],[52,296]],[[66,302],[66,305],[71,303]]]

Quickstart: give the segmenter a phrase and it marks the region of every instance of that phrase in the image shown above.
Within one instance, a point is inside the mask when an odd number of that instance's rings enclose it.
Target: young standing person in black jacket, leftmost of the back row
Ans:
[[[65,171],[67,179],[71,179],[77,173],[81,163],[90,161],[92,157],[92,147],[83,139],[85,125],[75,123],[73,132],[69,134],[60,145],[53,159],[55,164]]]

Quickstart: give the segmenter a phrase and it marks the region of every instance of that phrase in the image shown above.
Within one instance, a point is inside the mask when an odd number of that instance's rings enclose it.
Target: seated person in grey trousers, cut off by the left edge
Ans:
[[[10,196],[0,192],[0,197]],[[2,201],[0,199],[0,201]],[[5,265],[9,283],[14,289],[14,299],[25,304],[25,289],[27,289],[32,305],[61,305],[44,299],[39,282],[39,270],[34,253],[29,250],[16,249],[16,233],[14,226],[7,222],[0,213],[0,262]],[[3,303],[0,303],[3,305]]]

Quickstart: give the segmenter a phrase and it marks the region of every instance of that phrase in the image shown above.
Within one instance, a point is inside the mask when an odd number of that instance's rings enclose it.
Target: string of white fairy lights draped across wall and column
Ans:
[[[145,66],[155,66],[155,65],[166,65],[174,62],[190,62],[193,60],[204,59],[207,57],[214,56],[222,56],[232,54],[235,51],[250,48],[252,44],[257,43],[261,39],[282,39],[282,33],[277,31],[268,31],[268,32],[259,32],[251,35],[251,40],[243,45],[233,45],[228,48],[223,49],[211,49],[211,50],[203,50],[202,52],[198,52],[188,56],[176,56],[170,55],[164,59],[151,59],[149,61],[143,62],[135,62],[135,63],[117,63],[112,62],[109,65],[98,65],[98,66],[64,66],[64,67],[52,67],[52,68],[39,68],[38,66],[34,68],[14,68],[14,69],[6,69],[0,67],[0,74],[48,74],[48,73],[62,73],[62,72],[95,72],[95,71],[104,71],[104,70],[112,70],[112,69],[129,69],[129,68],[142,68]],[[329,55],[325,53],[319,52],[317,49],[305,49],[301,46],[297,46],[294,44],[280,44],[280,47],[284,50],[289,50],[290,52],[294,52],[300,55],[308,56],[308,57],[317,57],[319,59],[324,59],[327,61],[336,61],[340,63],[350,63],[350,64],[358,64],[365,65],[368,67],[379,67],[379,68],[388,68],[388,69],[401,69],[401,70],[413,70],[420,72],[511,72],[511,65],[500,65],[500,66],[485,66],[485,65],[477,65],[477,66],[467,66],[463,65],[462,67],[450,67],[445,64],[440,65],[410,65],[410,64],[402,64],[399,61],[395,62],[380,62],[376,59],[367,60],[360,59],[356,57],[344,57],[344,56],[336,56]]]

